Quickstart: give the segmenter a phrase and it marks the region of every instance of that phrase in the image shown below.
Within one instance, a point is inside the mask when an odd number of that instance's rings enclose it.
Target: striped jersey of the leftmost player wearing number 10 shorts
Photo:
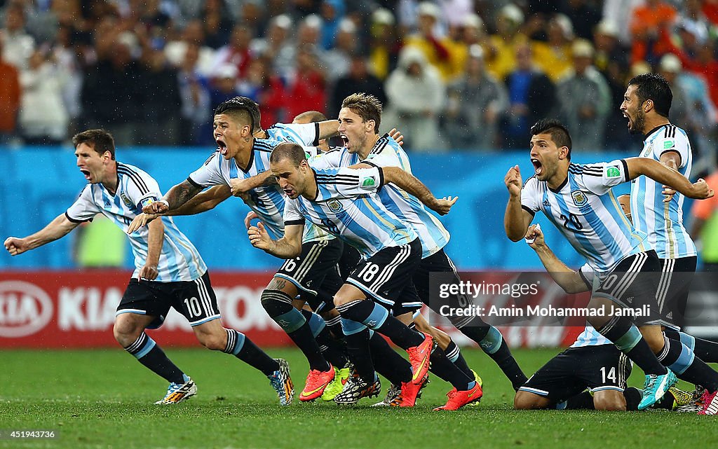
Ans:
[[[157,181],[136,166],[118,162],[117,177],[119,183],[114,195],[102,184],[86,185],[77,201],[65,212],[67,219],[71,222],[87,222],[96,214],[104,214],[126,232],[134,217],[142,212],[142,207],[162,198]],[[157,281],[179,282],[200,278],[207,271],[200,253],[177,229],[172,217],[162,217],[162,222],[164,242],[157,264]],[[129,235],[135,259],[132,276],[135,278],[147,260],[148,237],[147,227],[141,227]]]

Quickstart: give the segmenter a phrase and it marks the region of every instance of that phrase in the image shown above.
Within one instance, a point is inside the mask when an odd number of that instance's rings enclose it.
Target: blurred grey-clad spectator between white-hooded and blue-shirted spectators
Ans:
[[[498,121],[508,108],[508,97],[503,84],[486,71],[484,50],[479,44],[469,49],[465,75],[447,91],[442,135],[449,148],[497,148]]]

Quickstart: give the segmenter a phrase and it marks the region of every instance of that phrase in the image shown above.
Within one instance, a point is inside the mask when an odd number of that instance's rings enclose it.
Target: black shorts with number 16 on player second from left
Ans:
[[[302,243],[302,254],[284,260],[274,277],[289,280],[302,293],[317,296],[327,273],[336,273],[343,246],[342,241],[336,238]]]

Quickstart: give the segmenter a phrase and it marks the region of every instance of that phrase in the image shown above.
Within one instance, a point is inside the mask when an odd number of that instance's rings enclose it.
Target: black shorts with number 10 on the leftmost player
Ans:
[[[182,282],[157,282],[155,280],[130,279],[115,316],[121,313],[138,313],[154,316],[147,329],[157,329],[167,318],[169,308],[182,313],[197,326],[220,318],[217,296],[210,284],[210,274]]]

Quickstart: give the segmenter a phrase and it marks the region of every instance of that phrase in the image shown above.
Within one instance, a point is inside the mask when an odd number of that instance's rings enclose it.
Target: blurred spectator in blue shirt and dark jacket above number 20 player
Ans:
[[[556,109],[556,87],[533,65],[528,42],[516,46],[516,70],[504,79],[509,108],[501,123],[506,148],[526,148],[528,128]]]

